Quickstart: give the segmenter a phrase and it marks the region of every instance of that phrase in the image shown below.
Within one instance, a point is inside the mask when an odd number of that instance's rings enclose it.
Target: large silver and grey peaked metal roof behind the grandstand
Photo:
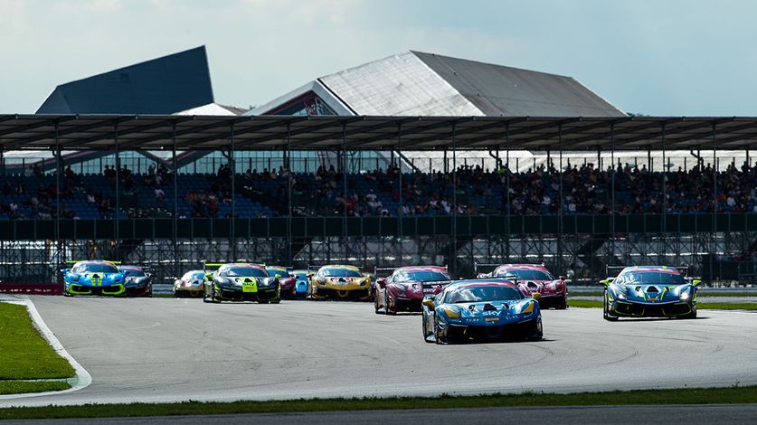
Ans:
[[[326,75],[248,115],[278,114],[311,92],[336,115],[624,117],[571,77],[405,52]]]

